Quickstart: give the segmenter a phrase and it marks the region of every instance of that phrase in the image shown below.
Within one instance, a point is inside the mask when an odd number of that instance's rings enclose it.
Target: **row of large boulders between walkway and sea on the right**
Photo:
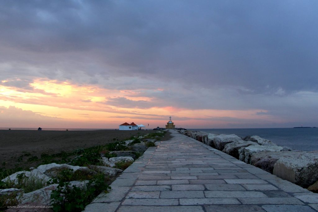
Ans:
[[[318,151],[305,152],[281,147],[256,135],[240,138],[235,134],[217,135],[201,131],[177,131],[245,163],[318,193]]]

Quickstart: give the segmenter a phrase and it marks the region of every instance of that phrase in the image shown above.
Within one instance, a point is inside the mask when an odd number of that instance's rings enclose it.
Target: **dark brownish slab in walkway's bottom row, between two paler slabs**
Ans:
[[[206,205],[206,212],[265,212],[258,205]]]

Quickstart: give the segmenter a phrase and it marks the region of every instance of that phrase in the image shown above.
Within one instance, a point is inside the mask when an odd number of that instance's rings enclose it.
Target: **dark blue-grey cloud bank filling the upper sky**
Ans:
[[[62,72],[93,78],[144,73],[168,79],[172,72],[180,82],[240,85],[257,93],[317,90],[317,1],[1,4],[1,45],[31,52],[33,65],[57,63]],[[84,56],[94,65],[73,63]]]

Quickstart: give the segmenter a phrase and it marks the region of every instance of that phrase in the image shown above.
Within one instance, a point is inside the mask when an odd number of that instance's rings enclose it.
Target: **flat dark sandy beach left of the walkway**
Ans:
[[[38,156],[42,153],[53,154],[61,151],[72,152],[77,148],[87,148],[97,145],[105,145],[124,140],[133,135],[143,135],[156,132],[154,130],[94,130],[94,131],[51,131],[51,130],[0,130],[0,167],[30,168],[32,164],[27,162],[31,156]],[[166,133],[162,140],[170,138]],[[114,140],[115,139],[115,140]],[[21,155],[30,153],[30,156]],[[5,165],[4,165],[5,164]]]

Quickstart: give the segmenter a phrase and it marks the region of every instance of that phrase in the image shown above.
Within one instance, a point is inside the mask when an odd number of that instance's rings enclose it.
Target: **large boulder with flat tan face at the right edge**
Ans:
[[[307,188],[318,180],[318,151],[296,152],[298,157],[282,157],[276,161],[273,174]]]

